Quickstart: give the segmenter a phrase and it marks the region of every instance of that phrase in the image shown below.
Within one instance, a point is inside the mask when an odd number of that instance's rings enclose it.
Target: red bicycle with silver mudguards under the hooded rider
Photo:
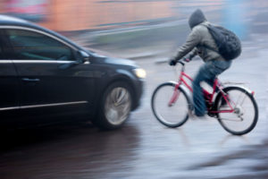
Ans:
[[[153,92],[151,107],[156,119],[168,127],[180,127],[188,121],[193,103],[189,92],[193,92],[188,81],[193,79],[181,64],[179,80],[160,84]],[[187,80],[188,79],[188,80]],[[243,135],[255,128],[258,107],[254,91],[239,85],[223,86],[216,77],[213,92],[203,88],[207,115],[218,119],[223,129],[234,135]]]

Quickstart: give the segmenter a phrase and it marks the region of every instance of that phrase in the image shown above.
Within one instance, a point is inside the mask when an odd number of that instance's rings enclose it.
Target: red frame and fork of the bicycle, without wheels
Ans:
[[[180,96],[180,90],[178,90],[180,88],[180,85],[181,84],[184,84],[189,91],[193,92],[193,89],[190,85],[188,85],[188,82],[184,79],[184,78],[187,78],[188,81],[193,81],[193,79],[188,76],[187,73],[185,73],[185,67],[184,67],[184,63],[182,62],[179,62],[181,65],[182,65],[182,68],[181,68],[181,71],[180,71],[180,76],[179,76],[179,80],[177,82],[177,84],[175,85],[175,88],[174,88],[174,91],[173,91],[173,95],[172,95],[172,98],[169,102],[169,106],[172,106],[176,101],[177,99],[179,98]],[[209,104],[213,104],[213,100],[214,100],[214,95],[216,94],[216,89],[219,89],[220,92],[222,93],[222,97],[224,98],[224,100],[226,101],[226,104],[230,107],[229,110],[219,110],[219,111],[214,111],[213,109],[210,109],[208,108],[208,112],[211,113],[211,114],[217,114],[217,113],[233,113],[234,112],[234,108],[231,107],[230,105],[230,101],[228,100],[229,96],[228,94],[226,94],[222,89],[222,85],[221,85],[221,82],[219,82],[218,78],[216,77],[215,80],[214,80],[214,86],[213,86],[213,92],[210,93],[208,92],[207,90],[203,89],[203,95],[204,95],[204,98],[206,100],[208,100],[208,103]]]

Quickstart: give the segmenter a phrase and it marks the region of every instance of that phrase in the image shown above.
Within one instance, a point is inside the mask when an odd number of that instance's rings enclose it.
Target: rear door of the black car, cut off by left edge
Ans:
[[[19,81],[12,60],[7,56],[8,45],[4,30],[0,30],[0,114],[1,121],[17,114],[19,103]]]

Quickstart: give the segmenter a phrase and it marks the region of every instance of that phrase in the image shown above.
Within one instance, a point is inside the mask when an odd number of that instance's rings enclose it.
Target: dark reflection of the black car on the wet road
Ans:
[[[126,126],[101,132],[89,124],[65,124],[2,133],[1,178],[109,178],[135,158],[138,131]],[[7,137],[8,141],[4,138]],[[5,137],[4,137],[5,136]]]

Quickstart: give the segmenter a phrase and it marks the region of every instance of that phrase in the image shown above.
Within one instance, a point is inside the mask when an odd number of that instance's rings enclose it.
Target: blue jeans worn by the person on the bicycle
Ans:
[[[212,60],[200,67],[199,72],[197,72],[193,81],[193,102],[197,116],[204,116],[206,111],[205,98],[203,96],[200,82],[205,81],[213,86],[215,77],[227,70],[230,67],[230,64],[231,61]]]

